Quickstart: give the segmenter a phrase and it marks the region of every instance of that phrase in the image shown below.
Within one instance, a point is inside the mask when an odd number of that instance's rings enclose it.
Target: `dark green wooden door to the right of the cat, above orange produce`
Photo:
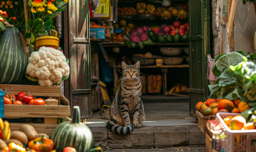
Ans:
[[[189,115],[197,118],[195,106],[208,97],[207,54],[210,54],[210,2],[189,3]]]

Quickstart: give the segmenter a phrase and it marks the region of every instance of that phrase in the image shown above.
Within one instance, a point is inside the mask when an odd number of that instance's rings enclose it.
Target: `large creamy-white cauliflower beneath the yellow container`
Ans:
[[[52,86],[68,77],[70,67],[64,54],[51,47],[41,47],[38,52],[32,52],[29,57],[26,72],[31,77],[37,77],[40,86]]]

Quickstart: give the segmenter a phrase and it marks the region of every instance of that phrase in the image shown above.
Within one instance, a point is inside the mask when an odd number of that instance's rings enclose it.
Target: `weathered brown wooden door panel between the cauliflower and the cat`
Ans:
[[[70,0],[64,19],[64,51],[70,58],[65,96],[70,100],[71,116],[73,106],[79,106],[81,119],[91,118],[89,0]]]

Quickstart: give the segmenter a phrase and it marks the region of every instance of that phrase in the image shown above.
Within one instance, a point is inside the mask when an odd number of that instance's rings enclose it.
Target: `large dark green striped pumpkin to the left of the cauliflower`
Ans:
[[[20,32],[8,27],[0,35],[0,83],[17,83],[25,75],[27,58]]]

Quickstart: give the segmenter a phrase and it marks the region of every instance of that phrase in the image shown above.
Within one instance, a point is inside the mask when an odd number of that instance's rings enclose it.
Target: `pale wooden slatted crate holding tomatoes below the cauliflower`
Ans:
[[[4,115],[6,119],[17,118],[44,118],[44,123],[27,123],[35,127],[37,132],[46,133],[51,136],[58,125],[58,118],[70,117],[69,101],[61,97],[61,87],[55,86],[33,86],[33,85],[11,85],[0,84],[0,88],[10,89],[10,93],[17,95],[19,92],[29,92],[35,97],[52,97],[58,100],[55,105],[15,105],[5,104]],[[63,101],[65,100],[65,102]],[[62,105],[60,105],[60,103]],[[48,104],[48,105],[47,105]],[[11,130],[19,130],[21,124],[10,123]]]

